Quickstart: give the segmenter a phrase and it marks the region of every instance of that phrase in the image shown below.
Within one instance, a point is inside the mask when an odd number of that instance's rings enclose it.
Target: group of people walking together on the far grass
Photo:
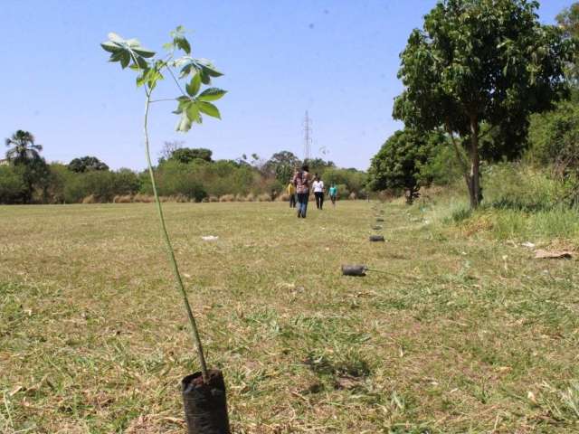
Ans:
[[[318,176],[318,174],[312,177],[309,174],[308,165],[302,165],[299,170],[289,180],[287,193],[289,194],[289,208],[298,207],[298,218],[305,219],[306,213],[308,212],[308,198],[309,191],[314,192],[314,197],[316,198],[316,207],[318,210],[324,209],[324,194],[326,193],[326,188],[324,186],[324,181]],[[337,187],[336,184],[332,183],[329,187],[329,198],[332,201],[332,205],[336,206],[337,199]]]

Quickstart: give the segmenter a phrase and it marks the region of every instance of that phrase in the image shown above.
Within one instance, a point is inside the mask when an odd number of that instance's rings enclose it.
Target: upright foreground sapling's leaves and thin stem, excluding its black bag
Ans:
[[[183,279],[179,273],[179,268],[175,259],[175,252],[171,245],[171,240],[166,231],[165,217],[163,208],[159,201],[157,193],[157,183],[155,182],[155,173],[151,165],[151,156],[149,152],[148,137],[148,115],[151,104],[162,101],[176,102],[176,109],[173,111],[179,119],[176,124],[176,130],[187,132],[193,124],[201,124],[203,115],[213,118],[221,118],[219,109],[211,101],[220,99],[225,94],[225,90],[206,87],[201,93],[204,86],[211,84],[212,78],[222,76],[212,62],[206,59],[195,59],[191,56],[191,44],[185,38],[185,28],[178,26],[175,31],[171,32],[172,41],[163,45],[166,51],[165,56],[157,56],[144,48],[137,39],[125,40],[117,33],[109,33],[109,40],[102,42],[102,48],[110,52],[109,61],[119,62],[121,68],[133,70],[137,73],[137,87],[145,91],[145,115],[143,118],[143,131],[145,135],[145,154],[147,156],[148,174],[153,187],[155,203],[157,204],[157,214],[161,227],[161,233],[165,241],[168,259],[175,276],[176,288],[183,297],[185,312],[191,325],[193,341],[201,365],[201,374],[204,383],[209,382],[209,373],[205,363],[203,344],[199,336],[199,330],[195,323],[195,316],[189,305]],[[176,53],[183,52],[183,56],[176,57]],[[179,95],[176,98],[152,99],[153,92],[157,90],[157,83],[164,80],[165,75],[170,76],[174,81]]]

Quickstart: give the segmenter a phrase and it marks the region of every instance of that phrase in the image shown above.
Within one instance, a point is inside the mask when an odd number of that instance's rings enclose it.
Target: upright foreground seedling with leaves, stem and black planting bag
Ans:
[[[155,173],[151,165],[148,136],[149,109],[151,104],[157,102],[174,101],[176,109],[173,113],[179,117],[176,129],[184,133],[189,131],[194,124],[201,124],[204,115],[221,118],[219,110],[212,101],[222,98],[225,90],[208,86],[213,78],[223,74],[210,61],[192,57],[191,45],[185,38],[185,29],[182,26],[178,26],[175,31],[171,32],[171,38],[172,41],[163,46],[166,51],[163,56],[144,48],[137,39],[125,40],[116,33],[109,33],[109,40],[100,45],[110,53],[109,61],[119,62],[123,70],[128,68],[136,72],[137,87],[142,88],[145,93],[143,132],[148,173],[151,178],[158,220],[169,263],[173,269],[176,288],[183,297],[185,312],[191,325],[195,352],[201,366],[200,372],[185,376],[182,382],[188,432],[229,434],[223,374],[218,370],[208,370],[205,363],[203,345],[195,323],[195,316],[189,305],[183,279],[176,263],[175,252],[166,231],[163,208],[157,194]],[[178,57],[177,54],[182,55]],[[157,84],[165,77],[174,82],[179,94],[170,99],[153,99]],[[203,91],[202,88],[204,88]]]

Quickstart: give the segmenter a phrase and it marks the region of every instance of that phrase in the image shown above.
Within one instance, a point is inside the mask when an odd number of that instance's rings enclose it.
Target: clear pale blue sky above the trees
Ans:
[[[552,24],[572,0],[542,0]],[[111,168],[146,165],[143,90],[135,73],[109,63],[107,33],[161,51],[178,24],[191,29],[193,55],[214,61],[228,90],[222,120],[175,131],[173,102],[151,112],[151,153],[166,141],[207,147],[214,158],[280,150],[366,169],[402,125],[392,118],[408,35],[436,0],[0,0],[0,137],[31,131],[49,161],[97,156]],[[165,80],[156,98],[179,95]],[[2,150],[4,153],[4,149]],[[0,154],[1,156],[2,154]]]

